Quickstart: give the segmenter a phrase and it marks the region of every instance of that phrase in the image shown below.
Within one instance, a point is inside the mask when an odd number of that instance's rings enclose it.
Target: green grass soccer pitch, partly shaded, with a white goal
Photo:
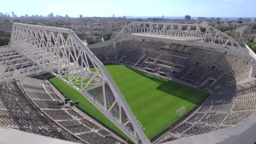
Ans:
[[[106,65],[109,74],[117,84],[132,112],[143,127],[148,139],[161,133],[181,117],[176,116],[176,110],[182,106],[189,112],[202,100],[207,93],[179,83],[163,79],[142,71],[127,68],[124,65]],[[51,82],[71,100],[79,100],[79,107],[94,116],[108,127],[125,134],[96,109],[82,94],[66,83],[57,79]],[[185,115],[185,113],[184,113]],[[127,136],[125,136],[127,139]]]

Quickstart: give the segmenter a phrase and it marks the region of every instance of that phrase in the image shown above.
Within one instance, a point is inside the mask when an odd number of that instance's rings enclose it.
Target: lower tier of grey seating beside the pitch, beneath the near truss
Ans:
[[[40,110],[84,141],[98,144],[122,143],[115,139],[108,131],[85,119],[71,107],[46,105],[44,101],[61,101],[53,88],[51,88],[49,81],[34,76],[25,77],[20,80],[20,83],[28,97],[36,103]],[[34,123],[34,125],[38,125],[38,123]],[[92,139],[92,134],[95,139]]]

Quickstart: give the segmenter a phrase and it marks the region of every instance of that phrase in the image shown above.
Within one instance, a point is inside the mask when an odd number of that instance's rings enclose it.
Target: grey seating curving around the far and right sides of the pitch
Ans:
[[[117,43],[115,49],[118,52],[112,54],[121,64],[150,69],[155,75],[211,91],[187,121],[163,138],[165,141],[228,128],[256,111],[256,78],[248,77],[252,63],[242,58],[185,45],[136,40]],[[101,57],[99,51],[94,52]],[[206,85],[207,80],[211,81]]]

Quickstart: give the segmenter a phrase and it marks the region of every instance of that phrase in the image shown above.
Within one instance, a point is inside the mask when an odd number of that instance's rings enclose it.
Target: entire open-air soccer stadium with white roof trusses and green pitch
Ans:
[[[208,25],[132,22],[86,46],[71,29],[14,23],[0,47],[1,139],[254,143],[255,64]]]

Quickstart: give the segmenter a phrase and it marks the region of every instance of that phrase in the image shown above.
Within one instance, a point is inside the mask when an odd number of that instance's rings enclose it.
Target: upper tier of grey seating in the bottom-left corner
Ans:
[[[16,82],[0,85],[0,126],[79,142],[77,138],[44,116],[21,91]]]

